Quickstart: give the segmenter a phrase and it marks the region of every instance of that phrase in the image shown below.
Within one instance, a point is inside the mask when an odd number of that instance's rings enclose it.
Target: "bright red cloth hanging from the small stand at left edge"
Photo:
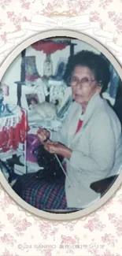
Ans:
[[[27,139],[27,132],[29,130],[28,120],[23,109],[21,109],[21,112],[22,116],[16,127],[14,125],[9,125],[8,128],[6,128],[6,125],[2,127],[2,132],[0,132],[0,147],[3,152],[7,152],[10,149],[17,150],[18,144],[24,143]],[[14,124],[16,117],[12,116],[11,118],[13,118]]]

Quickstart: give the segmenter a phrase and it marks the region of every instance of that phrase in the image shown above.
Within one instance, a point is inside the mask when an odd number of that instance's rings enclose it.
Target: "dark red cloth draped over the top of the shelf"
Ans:
[[[56,43],[56,42],[36,42],[31,45],[35,50],[43,50],[44,54],[53,54],[57,50],[63,50],[68,46],[67,43]]]

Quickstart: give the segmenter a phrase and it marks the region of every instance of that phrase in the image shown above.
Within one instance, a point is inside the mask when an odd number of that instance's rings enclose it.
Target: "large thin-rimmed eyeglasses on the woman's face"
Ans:
[[[81,80],[79,80],[76,76],[68,77],[68,84],[70,84],[72,87],[76,87],[79,84],[80,87],[88,88],[91,86],[91,82],[94,81],[95,80],[91,80],[88,77],[83,77]]]

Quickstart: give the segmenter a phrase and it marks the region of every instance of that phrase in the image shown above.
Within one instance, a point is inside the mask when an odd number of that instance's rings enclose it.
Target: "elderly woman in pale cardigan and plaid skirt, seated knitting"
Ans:
[[[83,50],[68,59],[65,77],[73,98],[68,115],[59,132],[39,129],[38,137],[47,151],[65,158],[66,177],[46,184],[27,174],[20,182],[20,196],[41,210],[91,205],[100,197],[91,183],[115,175],[121,164],[120,121],[101,96],[110,80],[108,62]]]

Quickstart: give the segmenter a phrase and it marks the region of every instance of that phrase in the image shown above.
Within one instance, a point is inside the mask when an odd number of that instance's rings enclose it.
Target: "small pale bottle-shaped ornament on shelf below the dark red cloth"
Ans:
[[[53,62],[50,58],[50,54],[46,54],[46,59],[43,63],[43,76],[53,76]]]

